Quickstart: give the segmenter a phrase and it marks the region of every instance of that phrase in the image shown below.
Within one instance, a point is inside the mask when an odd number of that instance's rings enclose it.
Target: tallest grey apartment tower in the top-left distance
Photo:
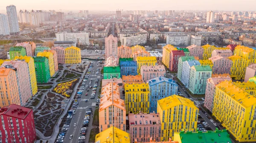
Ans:
[[[7,18],[9,22],[10,34],[19,34],[20,28],[18,23],[16,6],[14,5],[6,6],[6,13],[7,13]]]

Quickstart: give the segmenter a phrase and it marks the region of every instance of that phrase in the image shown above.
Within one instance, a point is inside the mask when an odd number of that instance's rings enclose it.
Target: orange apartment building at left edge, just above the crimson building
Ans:
[[[6,83],[6,84],[3,84]],[[0,102],[0,107],[10,104],[20,105],[19,88],[15,69],[0,68],[0,93],[3,100]]]

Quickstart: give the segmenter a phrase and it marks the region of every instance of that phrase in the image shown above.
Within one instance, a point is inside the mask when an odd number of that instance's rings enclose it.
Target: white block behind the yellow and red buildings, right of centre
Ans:
[[[189,36],[188,35],[176,35],[176,36],[167,36],[166,44],[171,44],[173,46],[188,46],[189,45]]]

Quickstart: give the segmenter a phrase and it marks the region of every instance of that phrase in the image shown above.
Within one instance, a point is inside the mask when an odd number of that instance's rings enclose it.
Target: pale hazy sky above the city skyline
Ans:
[[[224,10],[256,11],[256,0],[0,0],[0,10],[15,5],[36,10]]]

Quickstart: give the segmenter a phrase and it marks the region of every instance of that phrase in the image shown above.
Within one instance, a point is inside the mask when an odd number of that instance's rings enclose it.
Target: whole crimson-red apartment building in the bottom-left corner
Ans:
[[[35,123],[32,109],[11,104],[0,109],[0,143],[34,143]]]

